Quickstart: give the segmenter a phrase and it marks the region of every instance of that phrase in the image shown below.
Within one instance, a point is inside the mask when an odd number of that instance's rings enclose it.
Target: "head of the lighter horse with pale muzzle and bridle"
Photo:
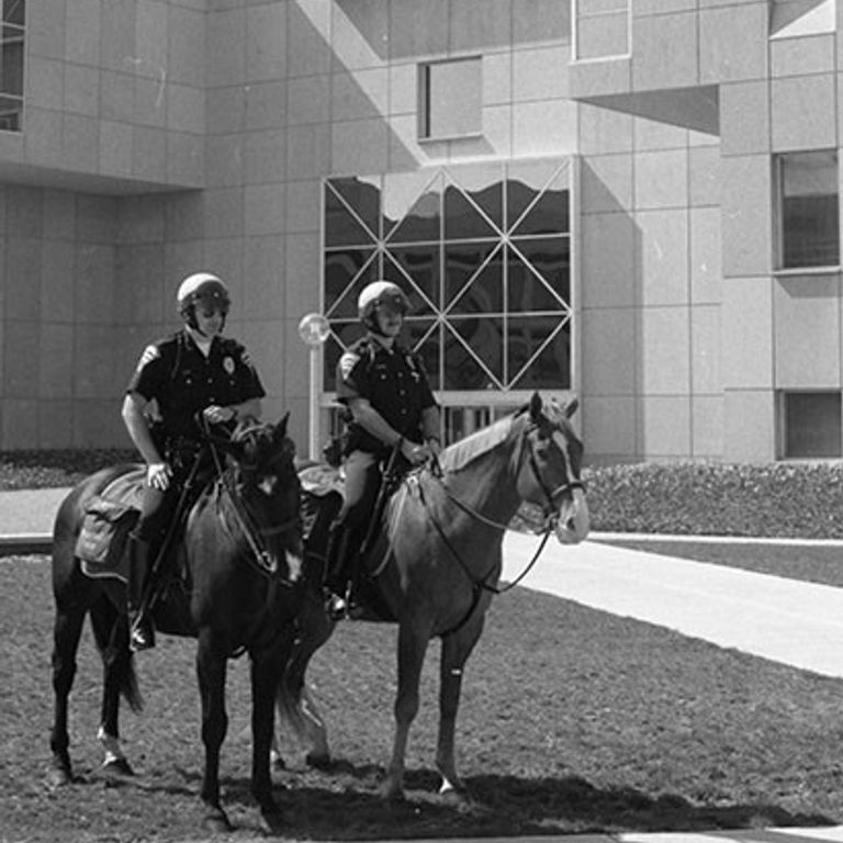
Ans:
[[[518,458],[518,494],[540,506],[552,520],[557,539],[575,544],[588,535],[588,504],[580,479],[583,443],[569,420],[577,401],[561,405],[533,393],[524,409]]]

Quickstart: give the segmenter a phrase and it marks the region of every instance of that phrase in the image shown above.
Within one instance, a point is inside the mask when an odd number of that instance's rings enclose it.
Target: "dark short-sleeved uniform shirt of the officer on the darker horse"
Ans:
[[[155,398],[166,440],[195,439],[195,416],[212,404],[228,406],[266,395],[239,342],[214,337],[205,357],[187,329],[147,346],[127,392]]]

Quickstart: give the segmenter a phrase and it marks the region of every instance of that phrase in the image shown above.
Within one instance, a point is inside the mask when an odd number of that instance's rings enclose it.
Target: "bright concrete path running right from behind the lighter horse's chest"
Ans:
[[[508,532],[504,578],[539,538]],[[843,554],[843,550],[841,550]],[[843,677],[843,589],[585,541],[548,542],[527,588],[667,627],[692,638],[825,676]]]

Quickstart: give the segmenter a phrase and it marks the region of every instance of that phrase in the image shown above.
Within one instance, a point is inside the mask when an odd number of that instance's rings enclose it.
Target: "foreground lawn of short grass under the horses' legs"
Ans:
[[[136,775],[100,771],[100,664],[88,632],[71,696],[77,780],[46,785],[52,595],[43,557],[0,561],[0,840],[196,841],[203,750],[194,643],[136,657],[146,707],[122,719]],[[407,800],[378,798],[392,738],[395,630],[347,623],[317,655],[334,765],[285,740],[276,774],[289,840],[712,830],[843,821],[843,683],[522,588],[499,597],[469,662],[458,727],[471,801],[436,795],[438,645],[407,755]],[[233,662],[222,796],[263,834],[249,795],[248,664]]]

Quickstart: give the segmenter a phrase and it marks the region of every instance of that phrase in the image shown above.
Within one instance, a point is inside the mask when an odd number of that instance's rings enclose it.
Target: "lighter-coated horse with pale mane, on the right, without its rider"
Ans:
[[[560,542],[580,542],[588,532],[580,480],[583,445],[569,420],[575,408],[576,402],[564,408],[535,394],[519,412],[446,449],[441,476],[429,469],[409,474],[386,507],[382,536],[368,559],[383,615],[398,623],[396,728],[382,791],[387,799],[403,797],[407,737],[418,711],[428,641],[435,637],[442,641],[436,752],[440,793],[464,789],[454,761],[462,670],[492,597],[502,591],[504,532],[521,504],[540,507],[547,530],[552,528]],[[308,588],[300,622],[278,708],[311,744],[311,763],[326,764],[324,721],[305,683],[312,655],[333,631],[316,589]]]

